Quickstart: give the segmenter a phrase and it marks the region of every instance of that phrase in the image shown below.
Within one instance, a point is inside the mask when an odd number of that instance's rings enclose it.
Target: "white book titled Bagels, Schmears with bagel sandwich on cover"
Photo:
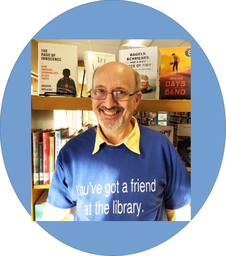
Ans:
[[[157,46],[119,50],[119,61],[135,69],[141,79],[141,99],[158,99],[161,52]]]

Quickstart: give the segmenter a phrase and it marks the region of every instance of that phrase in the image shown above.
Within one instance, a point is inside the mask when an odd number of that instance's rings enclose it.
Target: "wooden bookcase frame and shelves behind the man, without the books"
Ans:
[[[31,130],[54,126],[54,110],[92,110],[91,98],[43,97],[31,95]],[[141,100],[136,111],[190,112],[190,100]],[[31,162],[32,163],[32,162]],[[31,164],[32,166],[32,164]],[[34,204],[50,185],[33,185],[31,168],[31,220],[35,220]]]

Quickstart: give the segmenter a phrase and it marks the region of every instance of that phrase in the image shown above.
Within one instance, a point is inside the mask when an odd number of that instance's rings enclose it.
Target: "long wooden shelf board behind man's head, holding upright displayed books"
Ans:
[[[31,96],[32,110],[92,110],[91,98]],[[136,111],[190,112],[191,100],[141,100]]]

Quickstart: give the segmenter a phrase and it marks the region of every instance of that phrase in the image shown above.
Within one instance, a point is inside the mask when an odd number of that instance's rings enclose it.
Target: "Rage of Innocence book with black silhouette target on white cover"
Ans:
[[[38,43],[38,86],[39,95],[45,93],[77,95],[77,46]]]

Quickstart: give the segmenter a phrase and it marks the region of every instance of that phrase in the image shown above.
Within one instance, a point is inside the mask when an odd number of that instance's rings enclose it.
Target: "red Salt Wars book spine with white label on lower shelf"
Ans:
[[[54,133],[53,130],[48,130],[44,132],[42,142],[43,142],[43,184],[49,184],[49,137]]]

